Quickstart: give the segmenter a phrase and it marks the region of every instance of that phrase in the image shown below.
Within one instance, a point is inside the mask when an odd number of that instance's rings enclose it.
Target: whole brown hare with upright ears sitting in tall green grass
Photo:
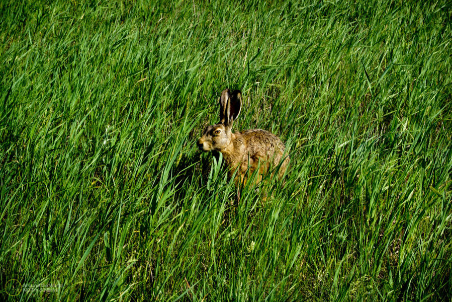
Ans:
[[[223,90],[220,97],[220,122],[206,127],[203,136],[197,141],[198,148],[204,152],[221,152],[229,170],[229,178],[238,170],[235,177],[238,187],[246,184],[248,176],[254,171],[257,170],[254,181],[258,183],[262,175],[280,164],[278,177],[282,178],[289,165],[289,157],[284,154],[285,146],[278,136],[262,129],[232,133],[232,124],[240,114],[241,107],[240,90]]]

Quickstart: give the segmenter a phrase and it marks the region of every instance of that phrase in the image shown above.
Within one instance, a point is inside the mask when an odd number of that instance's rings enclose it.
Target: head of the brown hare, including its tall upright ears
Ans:
[[[240,90],[223,90],[220,97],[220,122],[207,126],[203,136],[198,139],[198,148],[204,152],[221,151],[232,141],[232,124],[238,117],[242,107],[242,93]]]

